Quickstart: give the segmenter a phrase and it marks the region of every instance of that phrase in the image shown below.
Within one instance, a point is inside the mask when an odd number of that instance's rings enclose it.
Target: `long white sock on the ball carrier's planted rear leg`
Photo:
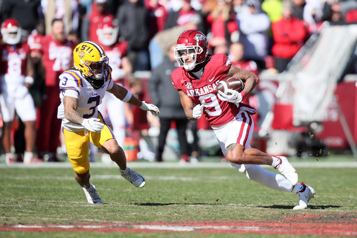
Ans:
[[[245,174],[250,180],[260,183],[265,187],[285,192],[292,191],[293,186],[284,176],[263,169],[260,165],[252,165],[246,170]]]

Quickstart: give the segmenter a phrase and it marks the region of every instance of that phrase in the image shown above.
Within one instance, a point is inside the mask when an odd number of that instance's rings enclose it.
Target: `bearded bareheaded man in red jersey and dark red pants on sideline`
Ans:
[[[65,38],[64,24],[61,19],[52,21],[52,33],[40,39],[44,64],[45,93],[40,106],[40,123],[37,130],[37,154],[43,158],[49,152],[49,162],[58,161],[56,150],[59,145],[61,120],[57,118],[57,108],[60,105],[58,94],[59,76],[73,66],[72,51],[74,43]]]

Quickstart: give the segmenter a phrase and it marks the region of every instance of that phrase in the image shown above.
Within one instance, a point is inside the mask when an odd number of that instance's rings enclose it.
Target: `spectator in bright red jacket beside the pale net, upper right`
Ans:
[[[282,72],[297,51],[303,46],[306,38],[304,22],[292,15],[292,5],[285,2],[283,17],[273,22],[274,45],[272,54],[275,57],[275,68]]]

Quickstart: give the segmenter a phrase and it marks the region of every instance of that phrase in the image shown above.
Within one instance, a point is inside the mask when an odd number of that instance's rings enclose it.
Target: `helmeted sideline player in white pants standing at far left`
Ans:
[[[24,163],[37,162],[32,153],[35,140],[36,110],[29,93],[29,87],[34,83],[34,68],[30,57],[30,47],[20,43],[21,28],[15,19],[6,19],[1,25],[2,39],[5,44],[0,46],[1,52],[1,95],[0,106],[4,120],[4,143],[6,163],[13,163],[14,157],[10,151],[10,131],[15,110],[25,125],[24,137],[26,148]]]

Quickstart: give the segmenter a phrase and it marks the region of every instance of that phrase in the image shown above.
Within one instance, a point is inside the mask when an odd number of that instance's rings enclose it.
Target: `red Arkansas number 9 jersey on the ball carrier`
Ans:
[[[231,61],[225,54],[216,54],[207,62],[201,79],[195,79],[183,67],[171,73],[175,88],[185,92],[196,105],[205,105],[203,114],[210,126],[221,126],[231,121],[242,106],[252,108],[243,103],[237,106],[235,103],[221,101],[217,97],[217,84],[227,76],[230,67]]]

